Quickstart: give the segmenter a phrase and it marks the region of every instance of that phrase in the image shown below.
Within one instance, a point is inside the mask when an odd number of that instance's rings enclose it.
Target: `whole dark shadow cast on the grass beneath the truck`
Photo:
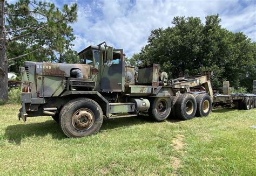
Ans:
[[[180,122],[178,119],[167,118],[167,121],[172,123]],[[114,119],[104,119],[100,131],[112,130],[117,128],[129,128],[133,125],[142,125],[149,123],[161,123],[156,122],[152,118],[146,115],[139,115],[136,117],[124,117]],[[9,140],[9,143],[21,144],[21,140],[27,137],[43,137],[51,135],[52,139],[64,139],[66,136],[62,132],[60,126],[53,120],[31,123],[31,124],[17,124],[7,126],[5,129],[4,137]]]

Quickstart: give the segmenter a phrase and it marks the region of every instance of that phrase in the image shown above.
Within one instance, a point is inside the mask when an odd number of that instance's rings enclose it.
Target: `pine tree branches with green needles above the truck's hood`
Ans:
[[[6,3],[6,9],[4,34],[10,70],[17,72],[23,58],[52,62],[58,55],[76,54],[70,49],[75,36],[68,23],[77,20],[77,4],[65,4],[60,10],[51,2],[19,0],[15,4]],[[4,65],[7,67],[7,62]],[[4,73],[7,75],[6,69]],[[3,75],[0,76],[2,79]],[[6,100],[7,92],[3,94],[2,100]]]

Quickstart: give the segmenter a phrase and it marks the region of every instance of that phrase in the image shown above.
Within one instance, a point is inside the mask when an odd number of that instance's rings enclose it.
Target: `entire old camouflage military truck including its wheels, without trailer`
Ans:
[[[158,64],[139,68],[135,77],[134,67],[125,65],[123,50],[105,42],[78,54],[80,64],[25,61],[20,67],[19,119],[52,116],[66,136],[83,137],[98,132],[104,117],[146,113],[161,122],[170,114],[186,120],[211,112],[213,96],[207,73],[201,83],[208,91],[199,96],[173,87]]]

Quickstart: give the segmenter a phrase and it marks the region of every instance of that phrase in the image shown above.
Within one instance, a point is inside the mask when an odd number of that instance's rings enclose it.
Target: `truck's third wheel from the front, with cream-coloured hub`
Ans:
[[[196,98],[191,94],[181,94],[174,108],[177,118],[182,120],[192,119],[197,110]]]

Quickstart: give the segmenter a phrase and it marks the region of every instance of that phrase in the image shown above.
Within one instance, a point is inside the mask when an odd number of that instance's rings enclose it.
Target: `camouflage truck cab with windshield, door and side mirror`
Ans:
[[[109,49],[111,48],[111,49]],[[78,53],[81,64],[90,64],[95,68],[93,81],[97,91],[124,91],[125,54],[122,49],[89,46]],[[96,70],[97,69],[97,70]]]

